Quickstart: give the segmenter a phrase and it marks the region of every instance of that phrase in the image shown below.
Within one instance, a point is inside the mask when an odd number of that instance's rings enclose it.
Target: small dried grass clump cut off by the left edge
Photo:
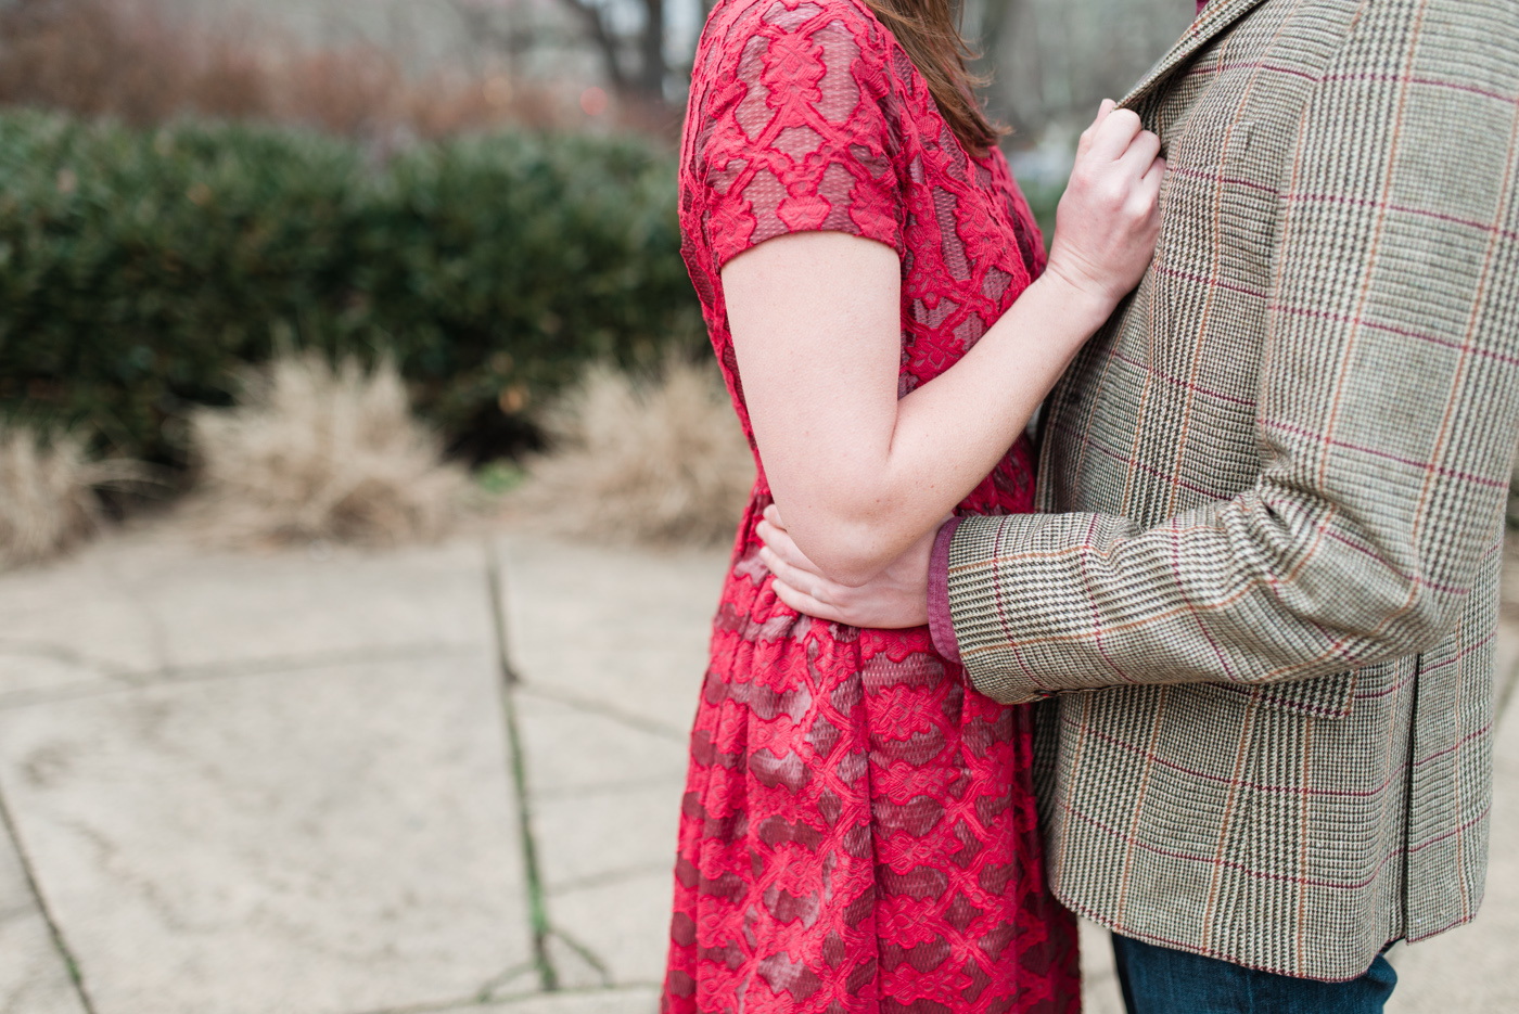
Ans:
[[[68,434],[0,427],[0,569],[38,563],[100,524],[97,486],[144,480],[140,464],[91,461]]]

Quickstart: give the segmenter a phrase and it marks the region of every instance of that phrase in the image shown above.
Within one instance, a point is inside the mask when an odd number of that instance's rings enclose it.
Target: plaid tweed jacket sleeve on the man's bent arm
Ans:
[[[1337,58],[1281,181],[1259,478],[1150,528],[968,518],[948,592],[990,697],[1329,675],[1455,622],[1519,428],[1519,14],[1390,6],[1425,18],[1361,26],[1399,65]]]

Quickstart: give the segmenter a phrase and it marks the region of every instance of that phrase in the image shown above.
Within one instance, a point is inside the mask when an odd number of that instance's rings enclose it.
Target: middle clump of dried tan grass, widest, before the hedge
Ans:
[[[389,361],[281,357],[243,378],[237,407],[197,411],[191,439],[202,534],[217,542],[431,539],[465,487]]]

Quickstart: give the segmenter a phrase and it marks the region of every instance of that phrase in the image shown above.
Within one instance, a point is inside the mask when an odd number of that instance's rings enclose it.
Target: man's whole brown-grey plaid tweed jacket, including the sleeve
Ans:
[[[1154,261],[972,518],[974,685],[1041,706],[1054,891],[1340,981],[1473,917],[1519,439],[1519,3],[1214,0],[1126,99]]]

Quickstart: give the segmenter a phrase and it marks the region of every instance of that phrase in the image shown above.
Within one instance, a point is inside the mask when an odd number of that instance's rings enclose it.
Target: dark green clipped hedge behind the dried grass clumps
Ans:
[[[700,340],[674,202],[673,156],[626,138],[380,164],[286,129],[3,114],[0,411],[178,463],[185,410],[289,343],[390,352],[445,433],[510,436],[585,360]]]

